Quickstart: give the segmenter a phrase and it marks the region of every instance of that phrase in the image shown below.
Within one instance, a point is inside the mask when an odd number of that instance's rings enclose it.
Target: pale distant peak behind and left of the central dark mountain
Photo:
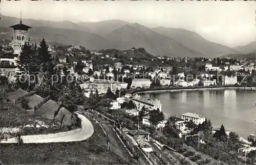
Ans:
[[[129,22],[113,19],[100,22],[79,22],[77,24],[83,26],[91,33],[105,37],[115,29],[120,28],[125,24],[129,24]]]

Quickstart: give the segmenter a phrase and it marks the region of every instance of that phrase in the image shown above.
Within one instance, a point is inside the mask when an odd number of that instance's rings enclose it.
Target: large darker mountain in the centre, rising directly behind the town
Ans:
[[[116,49],[144,47],[155,56],[204,57],[203,54],[189,49],[172,38],[158,34],[138,23],[122,26],[111,32],[107,38]]]

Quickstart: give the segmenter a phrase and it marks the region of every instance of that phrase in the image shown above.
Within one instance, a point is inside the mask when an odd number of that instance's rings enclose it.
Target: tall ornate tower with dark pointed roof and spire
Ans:
[[[12,37],[10,44],[14,50],[14,54],[19,55],[25,42],[30,42],[28,30],[31,29],[31,27],[22,23],[22,13],[20,12],[19,24],[10,26],[10,28],[13,28],[14,30],[14,36]]]

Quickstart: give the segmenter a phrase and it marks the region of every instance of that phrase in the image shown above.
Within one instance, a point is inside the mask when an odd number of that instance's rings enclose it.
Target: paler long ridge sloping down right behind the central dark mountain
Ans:
[[[168,36],[190,49],[204,54],[204,57],[219,57],[231,53],[239,54],[238,51],[227,46],[205,40],[195,32],[178,28],[164,28],[162,26],[153,28],[152,30],[159,34]]]

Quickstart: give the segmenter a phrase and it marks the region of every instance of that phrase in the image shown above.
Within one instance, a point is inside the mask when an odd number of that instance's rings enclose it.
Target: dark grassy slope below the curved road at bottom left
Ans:
[[[89,140],[50,144],[1,144],[0,160],[9,164],[127,164],[118,155],[106,150],[106,137],[92,121],[94,134]]]

